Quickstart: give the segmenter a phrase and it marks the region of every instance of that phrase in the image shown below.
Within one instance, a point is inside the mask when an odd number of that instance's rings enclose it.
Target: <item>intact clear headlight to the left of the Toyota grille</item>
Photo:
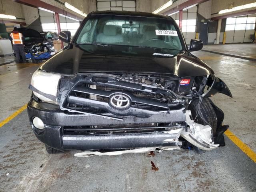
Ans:
[[[57,96],[59,80],[60,74],[36,70],[36,72],[34,72],[32,76],[31,85],[37,90],[42,91],[43,93]],[[38,97],[40,100],[44,102],[58,104],[58,102],[50,100],[34,91],[33,93],[36,97]]]

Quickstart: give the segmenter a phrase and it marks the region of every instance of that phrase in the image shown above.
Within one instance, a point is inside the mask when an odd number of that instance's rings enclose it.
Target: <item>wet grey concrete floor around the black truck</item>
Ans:
[[[217,50],[226,52],[229,46]],[[232,48],[253,58],[250,54],[256,53],[256,44],[242,46],[250,53],[239,44]],[[256,62],[204,51],[194,54],[230,88],[234,98],[217,94],[212,100],[224,111],[224,124],[230,125],[244,149],[252,150],[247,153],[255,160]],[[194,150],[88,158],[74,157],[74,151],[47,154],[30,128],[26,110],[19,110],[30,99],[28,84],[36,68],[37,64],[0,66],[0,121],[18,114],[0,123],[0,127],[4,124],[0,128],[0,191],[256,191],[255,162],[227,136],[225,147],[200,154]],[[151,162],[159,170],[152,169]]]

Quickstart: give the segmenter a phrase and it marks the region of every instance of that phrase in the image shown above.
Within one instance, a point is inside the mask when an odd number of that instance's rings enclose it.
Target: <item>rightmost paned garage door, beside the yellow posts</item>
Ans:
[[[250,35],[255,34],[256,14],[227,18],[226,43],[252,42]]]

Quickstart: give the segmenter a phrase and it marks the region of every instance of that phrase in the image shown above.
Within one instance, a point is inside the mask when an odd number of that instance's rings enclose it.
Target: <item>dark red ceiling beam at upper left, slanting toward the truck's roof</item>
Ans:
[[[17,2],[17,3],[20,3],[20,4],[27,5],[27,6],[31,6],[31,7],[34,7],[34,8],[38,8],[38,9],[43,8],[43,9],[46,9],[46,10],[49,10],[49,11],[52,11],[52,12],[55,12],[55,13],[62,14],[64,16],[74,18],[76,20],[82,21],[84,19],[82,17],[76,16],[73,13],[67,12],[67,11],[65,11],[61,8],[50,5],[50,4],[45,3],[43,1],[40,1],[40,0],[13,0],[13,1]]]

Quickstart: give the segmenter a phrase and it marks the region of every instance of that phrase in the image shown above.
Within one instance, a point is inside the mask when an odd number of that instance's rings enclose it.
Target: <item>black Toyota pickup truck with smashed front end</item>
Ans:
[[[68,46],[32,76],[28,115],[49,153],[77,156],[224,146],[224,113],[211,100],[232,97],[190,48],[170,16],[127,11],[88,14]],[[88,152],[88,150],[90,150]]]

